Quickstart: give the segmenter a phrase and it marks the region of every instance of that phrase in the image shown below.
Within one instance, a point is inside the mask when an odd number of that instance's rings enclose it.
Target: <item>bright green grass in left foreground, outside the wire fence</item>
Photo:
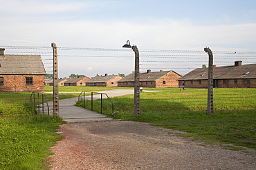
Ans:
[[[0,119],[0,169],[48,169],[48,149],[62,138],[54,133],[62,124],[43,115]]]

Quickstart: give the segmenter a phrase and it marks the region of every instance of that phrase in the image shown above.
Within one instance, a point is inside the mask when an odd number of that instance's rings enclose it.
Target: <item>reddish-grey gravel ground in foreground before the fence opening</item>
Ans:
[[[51,148],[51,169],[256,169],[250,153],[167,131],[131,121],[65,124],[57,132],[64,139]]]

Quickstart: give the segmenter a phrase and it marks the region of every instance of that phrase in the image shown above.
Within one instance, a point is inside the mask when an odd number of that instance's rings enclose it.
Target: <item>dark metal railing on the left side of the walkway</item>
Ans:
[[[32,92],[30,95],[30,101],[34,103],[35,111],[39,114],[44,114],[46,111],[49,115],[49,105],[45,94]]]

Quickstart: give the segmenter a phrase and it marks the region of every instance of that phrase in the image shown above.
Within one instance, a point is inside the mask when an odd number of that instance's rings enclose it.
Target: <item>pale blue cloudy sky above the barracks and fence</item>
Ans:
[[[256,51],[255,0],[0,0],[0,4],[0,47],[55,42],[57,47],[119,49],[129,39],[139,50]],[[129,58],[59,57],[60,77],[132,70]]]

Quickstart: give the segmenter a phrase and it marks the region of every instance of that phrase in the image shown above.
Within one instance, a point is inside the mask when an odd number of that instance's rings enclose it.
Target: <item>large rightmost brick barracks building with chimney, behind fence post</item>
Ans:
[[[241,63],[235,61],[234,65],[213,67],[213,87],[256,88],[256,64]],[[178,80],[179,85],[185,81],[185,87],[207,88],[208,68],[197,68]]]

